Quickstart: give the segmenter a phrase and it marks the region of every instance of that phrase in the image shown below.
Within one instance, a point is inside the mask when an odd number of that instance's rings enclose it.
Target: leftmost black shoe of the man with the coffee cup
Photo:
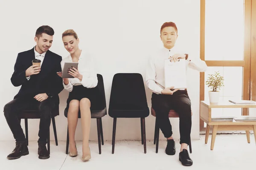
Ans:
[[[7,156],[7,159],[18,159],[20,158],[20,156],[25,156],[28,154],[29,154],[29,149],[26,145],[26,142],[16,142],[15,149],[12,151],[12,153],[10,153]]]

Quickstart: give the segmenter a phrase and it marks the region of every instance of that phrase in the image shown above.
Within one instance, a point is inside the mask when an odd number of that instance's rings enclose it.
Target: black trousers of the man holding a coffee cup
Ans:
[[[47,143],[49,127],[51,124],[52,109],[56,102],[52,98],[48,98],[43,102],[38,102],[34,98],[14,99],[4,106],[4,116],[8,123],[16,142],[25,142],[26,138],[20,126],[18,113],[25,110],[38,110],[40,114],[39,139],[38,142]]]

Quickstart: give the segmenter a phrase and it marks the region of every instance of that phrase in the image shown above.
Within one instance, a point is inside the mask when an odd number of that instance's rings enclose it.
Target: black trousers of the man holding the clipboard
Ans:
[[[156,112],[158,125],[166,138],[172,136],[169,111],[174,110],[180,117],[180,144],[190,142],[191,102],[186,90],[176,91],[173,95],[152,94],[152,108]]]

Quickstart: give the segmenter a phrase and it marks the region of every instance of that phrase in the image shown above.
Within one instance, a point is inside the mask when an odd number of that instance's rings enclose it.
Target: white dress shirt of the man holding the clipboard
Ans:
[[[167,48],[161,48],[159,51],[152,54],[149,58],[148,67],[146,71],[146,84],[155,94],[161,94],[161,91],[165,88],[164,80],[164,60],[168,59],[174,54],[180,53],[175,47],[170,50]],[[191,55],[186,60],[186,70],[189,66],[195,70],[204,72],[207,69],[207,65],[200,58],[193,58]]]

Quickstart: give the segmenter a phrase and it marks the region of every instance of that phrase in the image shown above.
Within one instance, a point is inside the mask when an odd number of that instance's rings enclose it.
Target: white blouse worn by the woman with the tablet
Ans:
[[[61,61],[62,72],[65,62],[73,62],[71,55]],[[74,85],[83,85],[86,88],[96,87],[98,84],[98,78],[95,68],[96,65],[93,57],[90,54],[84,53],[82,51],[78,60],[78,71],[81,75],[83,75],[82,81],[80,81],[78,78],[69,78],[69,83],[67,85],[65,85],[63,82],[64,88],[71,92]]]

